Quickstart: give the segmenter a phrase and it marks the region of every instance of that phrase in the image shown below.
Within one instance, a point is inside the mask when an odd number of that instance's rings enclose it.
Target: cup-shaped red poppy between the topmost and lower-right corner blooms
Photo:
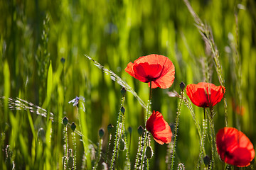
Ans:
[[[208,108],[221,101],[225,94],[225,87],[203,82],[188,84],[186,94],[196,106]]]

